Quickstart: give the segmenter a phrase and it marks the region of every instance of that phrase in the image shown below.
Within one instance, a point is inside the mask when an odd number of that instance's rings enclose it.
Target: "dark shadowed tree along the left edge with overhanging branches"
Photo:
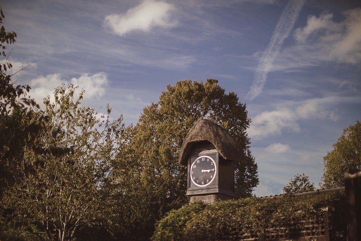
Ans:
[[[34,139],[42,128],[43,122],[47,121],[44,115],[38,115],[39,109],[34,99],[30,99],[29,85],[17,85],[13,80],[14,74],[26,70],[28,66],[11,75],[12,64],[8,61],[6,48],[16,41],[15,32],[6,32],[3,24],[4,13],[0,7],[0,199],[4,189],[11,187],[18,178],[18,168],[23,156],[23,149],[30,148],[34,151],[55,151],[59,155],[69,152],[68,149],[46,149],[42,146],[34,146]],[[8,46],[6,46],[8,45]],[[11,51],[10,51],[11,52]],[[21,97],[21,98],[20,98]],[[34,119],[34,111],[24,108],[31,106],[37,109],[37,119]],[[1,207],[0,207],[1,208]]]

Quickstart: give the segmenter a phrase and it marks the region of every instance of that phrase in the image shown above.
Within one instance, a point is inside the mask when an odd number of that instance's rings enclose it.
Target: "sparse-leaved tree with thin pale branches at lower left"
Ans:
[[[77,87],[55,89],[55,103],[44,99],[49,120],[35,145],[70,148],[68,155],[27,149],[21,178],[4,193],[3,233],[7,238],[71,240],[80,227],[112,222],[118,198],[113,182],[114,156],[122,145],[122,117],[113,122],[94,109],[80,107],[84,91],[74,99]],[[41,114],[41,113],[40,113]],[[6,229],[8,231],[6,231]],[[1,239],[1,237],[0,237]]]

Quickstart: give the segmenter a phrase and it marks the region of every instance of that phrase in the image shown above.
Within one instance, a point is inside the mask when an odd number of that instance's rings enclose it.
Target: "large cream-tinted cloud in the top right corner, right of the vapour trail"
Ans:
[[[321,61],[361,63],[361,8],[343,13],[344,20],[333,21],[332,13],[309,16],[304,27],[295,30],[296,44],[282,52],[280,64],[319,65]],[[301,66],[298,66],[301,67]]]

